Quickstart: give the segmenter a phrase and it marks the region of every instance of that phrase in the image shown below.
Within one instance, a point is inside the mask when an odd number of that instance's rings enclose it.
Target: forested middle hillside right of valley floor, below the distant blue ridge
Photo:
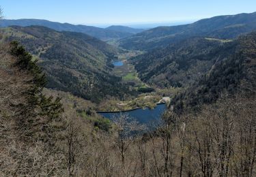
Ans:
[[[139,77],[160,87],[186,87],[234,52],[234,42],[195,37],[133,58]]]

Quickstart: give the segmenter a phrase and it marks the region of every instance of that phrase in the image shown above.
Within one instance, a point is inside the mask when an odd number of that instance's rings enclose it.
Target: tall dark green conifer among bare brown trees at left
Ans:
[[[23,46],[18,42],[11,42],[10,54],[16,58],[14,67],[18,67],[20,73],[31,77],[30,80],[24,81],[30,85],[23,93],[26,100],[19,105],[13,105],[18,108],[16,111],[18,129],[23,130],[20,138],[26,140],[29,136],[38,136],[40,140],[48,141],[52,136],[51,122],[57,121],[63,112],[61,99],[57,97],[53,100],[53,97],[47,98],[42,94],[42,88],[46,84],[45,75]]]

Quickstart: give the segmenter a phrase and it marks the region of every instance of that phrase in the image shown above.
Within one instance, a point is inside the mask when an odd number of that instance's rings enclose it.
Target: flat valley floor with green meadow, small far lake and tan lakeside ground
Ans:
[[[156,108],[156,103],[162,99],[161,89],[158,88],[156,91],[156,89],[142,82],[131,62],[132,57],[136,57],[142,53],[140,51],[126,51],[119,54],[116,61],[113,61],[113,65],[115,66],[113,68],[113,74],[122,78],[121,82],[127,84],[130,91],[137,91],[137,96],[130,97],[129,95],[124,95],[122,99],[104,100],[99,104],[98,111],[118,112],[133,110],[134,108]],[[145,93],[143,93],[143,89],[145,89]],[[149,90],[147,91],[147,89]]]

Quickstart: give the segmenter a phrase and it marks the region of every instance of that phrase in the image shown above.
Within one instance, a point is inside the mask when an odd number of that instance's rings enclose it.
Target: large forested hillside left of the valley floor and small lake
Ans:
[[[110,74],[115,48],[83,33],[58,32],[46,27],[2,29],[5,40],[17,40],[39,59],[48,77],[48,88],[100,101],[129,93],[121,78]],[[40,58],[39,58],[40,57]]]

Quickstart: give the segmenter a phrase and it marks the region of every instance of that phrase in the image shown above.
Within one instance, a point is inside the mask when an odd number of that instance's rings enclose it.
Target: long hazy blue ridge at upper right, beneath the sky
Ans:
[[[131,37],[120,39],[122,48],[129,50],[150,50],[167,46],[193,36],[232,39],[256,29],[256,12],[232,16],[216,16],[199,20],[189,25],[157,27]]]

